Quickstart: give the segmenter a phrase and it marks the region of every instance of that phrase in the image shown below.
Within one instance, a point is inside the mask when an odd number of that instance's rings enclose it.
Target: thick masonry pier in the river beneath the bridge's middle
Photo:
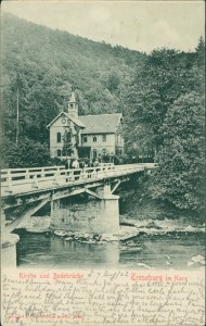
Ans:
[[[55,230],[114,234],[119,230],[118,196],[111,186],[87,190],[85,197],[52,199],[51,228]]]

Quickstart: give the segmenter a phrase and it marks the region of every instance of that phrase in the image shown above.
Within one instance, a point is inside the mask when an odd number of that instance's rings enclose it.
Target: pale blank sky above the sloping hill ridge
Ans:
[[[4,0],[1,14],[96,41],[150,53],[156,48],[193,51],[204,36],[204,1]]]

